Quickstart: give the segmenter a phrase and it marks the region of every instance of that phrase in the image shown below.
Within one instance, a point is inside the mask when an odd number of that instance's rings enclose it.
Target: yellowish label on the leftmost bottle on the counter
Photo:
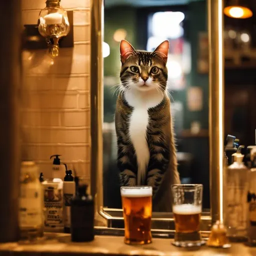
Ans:
[[[35,185],[20,184],[19,226],[42,225],[41,190]]]

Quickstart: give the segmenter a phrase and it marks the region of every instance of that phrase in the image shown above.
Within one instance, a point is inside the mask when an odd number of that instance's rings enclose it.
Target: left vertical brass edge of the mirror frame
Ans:
[[[90,0],[90,192],[98,213],[103,205],[103,20],[103,0]]]

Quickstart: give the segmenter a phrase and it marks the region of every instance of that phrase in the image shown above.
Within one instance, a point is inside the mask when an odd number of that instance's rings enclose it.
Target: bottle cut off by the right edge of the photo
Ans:
[[[251,169],[249,174],[249,191],[247,195],[248,216],[248,242],[256,245],[256,148],[251,150]]]

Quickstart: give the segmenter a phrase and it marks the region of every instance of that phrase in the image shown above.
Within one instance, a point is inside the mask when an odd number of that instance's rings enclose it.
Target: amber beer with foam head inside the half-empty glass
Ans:
[[[193,204],[174,205],[173,214],[176,232],[192,233],[200,230],[200,206]]]

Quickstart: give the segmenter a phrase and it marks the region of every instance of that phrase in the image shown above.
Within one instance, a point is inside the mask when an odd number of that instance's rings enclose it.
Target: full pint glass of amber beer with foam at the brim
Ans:
[[[127,244],[150,243],[152,215],[151,186],[122,186],[124,242]]]

